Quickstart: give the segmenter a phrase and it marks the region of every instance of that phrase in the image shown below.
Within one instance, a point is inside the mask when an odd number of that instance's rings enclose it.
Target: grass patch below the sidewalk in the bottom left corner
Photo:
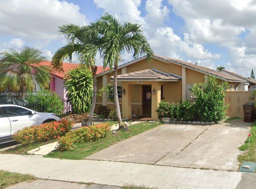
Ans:
[[[36,177],[30,174],[12,173],[0,170],[0,188],[6,188],[18,182],[35,180]]]

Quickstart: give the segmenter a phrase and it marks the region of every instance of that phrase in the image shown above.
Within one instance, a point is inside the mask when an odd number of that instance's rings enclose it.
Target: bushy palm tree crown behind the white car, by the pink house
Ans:
[[[0,54],[0,90],[8,89],[10,92],[24,93],[33,91],[37,83],[41,88],[48,87],[50,82],[50,70],[39,63],[46,57],[41,51],[25,46],[15,51],[9,49]]]

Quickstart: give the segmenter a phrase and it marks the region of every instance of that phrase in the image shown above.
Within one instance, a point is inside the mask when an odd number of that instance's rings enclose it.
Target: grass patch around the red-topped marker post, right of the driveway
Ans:
[[[243,161],[256,162],[256,122],[253,123],[250,133],[251,133],[251,137],[250,137],[249,156],[248,156],[249,137],[246,139],[244,144],[238,148],[240,151],[243,151],[243,153],[238,156],[238,161],[240,163],[242,163]]]

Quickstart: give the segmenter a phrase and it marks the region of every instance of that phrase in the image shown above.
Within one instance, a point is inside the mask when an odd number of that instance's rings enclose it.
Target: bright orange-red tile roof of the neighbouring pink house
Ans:
[[[40,62],[39,65],[50,67],[51,75],[54,76],[54,77],[58,77],[59,79],[63,79],[63,77],[64,77],[66,72],[68,72],[69,70],[73,70],[73,69],[75,69],[76,67],[79,66],[79,64],[63,62],[63,70],[64,70],[64,72],[59,72],[56,69],[53,69],[51,61],[42,61],[42,62]],[[103,70],[102,66],[97,66],[96,74],[100,74],[101,72],[107,71],[107,70],[109,70],[109,67],[106,67],[106,69]]]

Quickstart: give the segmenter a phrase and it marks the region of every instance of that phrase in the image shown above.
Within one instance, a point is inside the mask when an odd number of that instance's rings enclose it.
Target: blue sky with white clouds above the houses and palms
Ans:
[[[109,12],[143,24],[156,54],[249,76],[256,69],[254,9],[250,0],[2,0],[0,51],[29,45],[50,59],[65,44],[59,25],[84,25]],[[132,57],[124,54],[123,59]]]

